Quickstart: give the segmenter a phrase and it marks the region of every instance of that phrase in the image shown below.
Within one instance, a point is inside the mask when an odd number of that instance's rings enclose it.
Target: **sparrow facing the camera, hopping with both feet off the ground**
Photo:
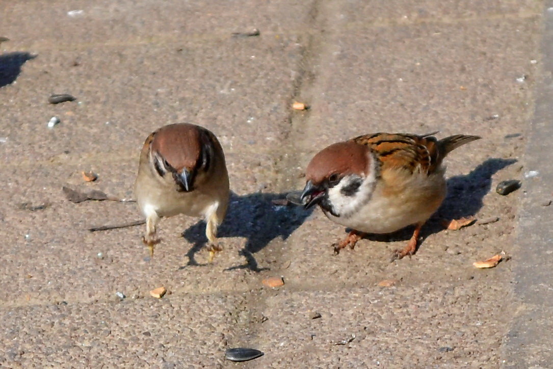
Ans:
[[[146,218],[142,238],[153,255],[158,222],[177,214],[206,221],[209,261],[222,248],[217,227],[229,199],[225,154],[215,134],[189,123],[169,124],[148,136],[140,152],[134,184],[138,207]]]

